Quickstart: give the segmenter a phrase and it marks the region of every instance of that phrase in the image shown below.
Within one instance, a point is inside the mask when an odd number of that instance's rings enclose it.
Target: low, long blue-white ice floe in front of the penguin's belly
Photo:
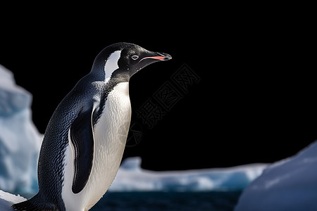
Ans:
[[[141,168],[141,158],[126,158],[109,191],[242,191],[266,166],[154,172]]]

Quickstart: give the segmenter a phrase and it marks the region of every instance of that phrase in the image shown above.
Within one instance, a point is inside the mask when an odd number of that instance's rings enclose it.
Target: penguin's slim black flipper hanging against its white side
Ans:
[[[92,161],[94,158],[92,114],[93,106],[80,112],[70,127],[70,139],[75,150],[73,193],[82,191],[92,171]]]

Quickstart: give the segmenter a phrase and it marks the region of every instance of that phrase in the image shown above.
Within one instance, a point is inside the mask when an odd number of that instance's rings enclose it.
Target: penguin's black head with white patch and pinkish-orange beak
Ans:
[[[98,54],[92,71],[102,74],[104,79],[120,77],[120,80],[128,82],[132,75],[147,65],[171,58],[167,53],[148,51],[136,44],[120,42],[107,46]]]

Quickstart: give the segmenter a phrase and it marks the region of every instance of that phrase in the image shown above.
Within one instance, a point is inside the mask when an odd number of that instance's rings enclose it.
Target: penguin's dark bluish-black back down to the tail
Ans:
[[[89,89],[93,81],[91,75],[82,78],[54,111],[46,127],[39,152],[37,167],[39,193],[30,200],[13,205],[15,210],[65,210],[61,192],[68,129],[82,106],[85,106],[89,98],[92,98],[90,96],[98,91]]]

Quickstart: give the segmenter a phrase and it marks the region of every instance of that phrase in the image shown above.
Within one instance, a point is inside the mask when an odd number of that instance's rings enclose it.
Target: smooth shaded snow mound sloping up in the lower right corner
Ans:
[[[317,210],[317,141],[264,170],[242,192],[240,210]]]

